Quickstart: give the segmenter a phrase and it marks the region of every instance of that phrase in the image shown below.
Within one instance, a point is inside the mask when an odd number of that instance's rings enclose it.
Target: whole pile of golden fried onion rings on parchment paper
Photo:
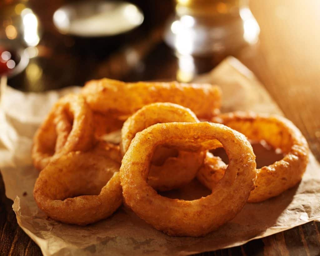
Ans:
[[[279,116],[219,115],[220,105],[220,89],[210,84],[89,81],[80,94],[61,98],[35,134],[37,205],[53,220],[87,225],[124,201],[171,236],[204,236],[247,202],[299,183],[309,149],[294,124]],[[284,158],[256,169],[249,140],[266,141]],[[228,164],[209,152],[219,147]],[[186,201],[157,193],[194,178],[209,196]]]

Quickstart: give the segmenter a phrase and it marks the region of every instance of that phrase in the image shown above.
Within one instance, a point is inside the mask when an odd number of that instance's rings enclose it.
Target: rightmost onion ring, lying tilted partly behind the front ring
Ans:
[[[213,121],[243,133],[252,141],[265,140],[273,148],[280,148],[285,154],[280,161],[257,170],[255,189],[251,192],[248,202],[256,203],[278,196],[302,179],[308,164],[308,143],[299,129],[288,119],[281,116],[234,112],[220,115]],[[211,165],[206,164],[208,162],[211,162]],[[212,189],[226,168],[227,165],[219,157],[207,156],[197,178],[203,185]]]

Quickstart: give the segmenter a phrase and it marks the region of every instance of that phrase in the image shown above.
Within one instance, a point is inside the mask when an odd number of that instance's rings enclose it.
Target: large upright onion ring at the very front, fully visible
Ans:
[[[147,184],[157,145],[206,150],[219,140],[229,157],[224,177],[212,194],[193,201],[160,196]],[[155,124],[136,134],[122,160],[125,203],[141,219],[173,236],[203,236],[233,219],[243,208],[256,178],[255,156],[245,136],[222,124]]]

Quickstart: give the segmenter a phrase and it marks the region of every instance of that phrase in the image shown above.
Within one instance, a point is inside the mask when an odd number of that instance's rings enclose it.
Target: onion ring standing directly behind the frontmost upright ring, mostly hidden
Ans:
[[[190,109],[177,104],[152,103],[144,106],[124,122],[120,145],[123,155],[137,132],[141,132],[153,124],[169,122],[199,122],[199,120]],[[161,154],[162,149],[163,147],[157,148],[154,155]],[[165,149],[168,150],[168,148]],[[163,164],[151,165],[148,184],[158,191],[179,188],[196,177],[203,160],[204,152],[180,150],[178,156],[168,157]]]

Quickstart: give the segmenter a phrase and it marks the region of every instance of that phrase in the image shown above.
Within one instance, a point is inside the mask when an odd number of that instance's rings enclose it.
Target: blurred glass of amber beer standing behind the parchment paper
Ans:
[[[179,58],[180,81],[193,78],[191,71],[197,71],[191,65],[194,58],[227,56],[258,41],[260,28],[248,0],[176,0],[175,11],[164,40]]]

